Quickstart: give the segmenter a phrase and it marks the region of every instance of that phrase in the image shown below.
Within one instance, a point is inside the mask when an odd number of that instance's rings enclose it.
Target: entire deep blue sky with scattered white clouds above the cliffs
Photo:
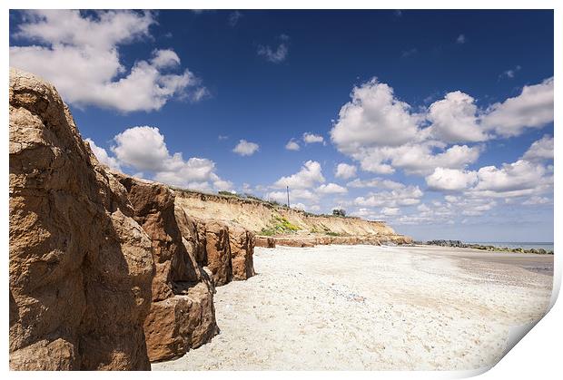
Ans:
[[[550,11],[13,11],[10,45],[129,174],[553,239]]]

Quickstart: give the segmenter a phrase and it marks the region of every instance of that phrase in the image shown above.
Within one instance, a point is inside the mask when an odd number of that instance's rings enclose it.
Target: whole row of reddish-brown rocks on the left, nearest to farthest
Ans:
[[[100,165],[54,88],[10,72],[13,369],[148,370],[217,334],[203,266],[216,247],[232,277],[228,228],[199,231],[174,198]]]

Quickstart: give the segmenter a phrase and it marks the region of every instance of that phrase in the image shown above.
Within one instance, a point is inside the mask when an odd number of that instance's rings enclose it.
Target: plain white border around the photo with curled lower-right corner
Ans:
[[[322,2],[313,1],[303,1],[303,0],[271,0],[267,4],[264,2],[256,0],[238,0],[238,1],[227,1],[227,0],[189,0],[189,1],[173,1],[173,0],[159,0],[159,1],[148,1],[148,0],[100,0],[100,1],[71,1],[71,0],[60,0],[60,1],[39,1],[39,0],[19,0],[19,1],[4,1],[2,2],[4,12],[1,14],[2,25],[5,30],[4,39],[2,40],[3,52],[1,54],[2,66],[4,68],[5,75],[2,77],[2,82],[4,83],[4,106],[2,107],[2,117],[4,120],[4,125],[8,124],[8,92],[6,91],[8,87],[8,22],[9,22],[9,9],[34,9],[34,8],[71,8],[71,9],[554,9],[554,21],[555,21],[555,35],[554,35],[554,49],[555,49],[555,62],[554,62],[554,78],[556,93],[559,89],[559,77],[558,68],[563,67],[563,61],[561,60],[561,36],[563,36],[563,30],[561,27],[561,8],[563,7],[563,2],[555,0],[535,0],[535,1],[499,1],[499,0],[472,0],[472,1],[445,1],[445,0],[427,0],[424,2],[417,2],[415,0],[396,0],[390,2],[375,2],[369,0],[346,0],[346,1],[335,1],[335,0],[325,0]],[[509,5],[507,7],[507,5]],[[422,8],[424,6],[424,8]],[[563,104],[559,101],[558,96],[555,97],[555,125],[560,125],[561,122],[561,110],[563,110]],[[6,128],[7,130],[7,128]],[[5,131],[6,131],[5,130]],[[561,231],[561,203],[558,199],[559,179],[561,178],[561,164],[558,159],[558,151],[563,147],[559,133],[554,132],[555,135],[555,185],[554,185],[554,230]],[[8,133],[4,132],[0,134],[1,146],[6,149],[8,147]],[[4,297],[2,298],[2,310],[4,314],[2,319],[5,321],[5,327],[0,329],[0,334],[2,336],[2,347],[5,353],[4,360],[0,364],[5,375],[9,375],[14,378],[37,378],[38,376],[53,378],[53,377],[63,377],[63,378],[74,378],[76,374],[74,373],[31,373],[31,372],[9,372],[8,371],[8,155],[6,152],[3,153],[2,165],[0,166],[2,171],[2,189],[5,191],[5,196],[2,198],[2,207],[5,210],[3,213],[2,226],[2,242],[5,247],[5,259],[2,260],[1,276],[4,278]],[[556,251],[560,254],[561,247],[561,236],[557,235],[554,237],[554,246]],[[153,372],[153,373],[123,373],[123,372],[113,372],[113,373],[100,373],[100,372],[90,372],[81,373],[80,377],[84,378],[99,378],[99,376],[107,376],[114,378],[135,378],[137,377],[162,377],[162,378],[185,378],[185,376],[205,378],[205,379],[216,379],[222,378],[223,376],[228,376],[230,378],[262,378],[267,376],[269,378],[282,378],[286,376],[291,377],[318,377],[318,378],[341,378],[342,376],[354,377],[354,378],[368,378],[377,375],[381,378],[387,379],[397,379],[397,378],[419,378],[419,379],[437,379],[437,378],[461,378],[468,377],[472,375],[482,374],[482,378],[487,379],[504,379],[510,378],[519,379],[526,378],[529,379],[531,376],[539,378],[555,378],[556,375],[561,374],[560,365],[560,352],[561,352],[561,339],[562,327],[559,323],[563,320],[563,307],[561,307],[561,302],[555,303],[559,289],[561,285],[561,259],[559,255],[555,254],[555,273],[554,273],[554,287],[553,294],[551,297],[551,305],[555,306],[551,309],[546,317],[538,322],[531,333],[525,336],[521,343],[516,345],[507,356],[500,360],[498,365],[495,365],[491,370],[478,370],[478,371],[442,371],[442,372],[321,372],[321,371],[311,371],[311,372],[190,372],[186,374],[184,372]],[[485,373],[484,373],[485,372]]]

